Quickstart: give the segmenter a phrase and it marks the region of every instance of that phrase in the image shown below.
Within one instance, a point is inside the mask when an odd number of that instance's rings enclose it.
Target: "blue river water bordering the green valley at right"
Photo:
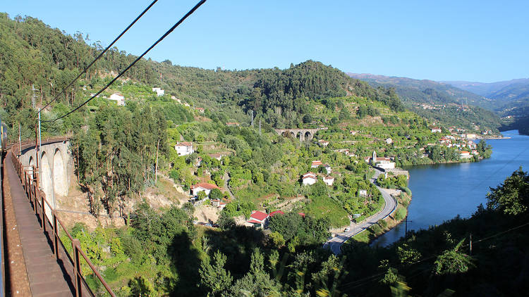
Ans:
[[[408,230],[427,229],[456,215],[470,217],[487,203],[489,187],[497,187],[522,166],[529,170],[529,137],[518,130],[502,132],[511,139],[487,139],[491,158],[476,163],[408,167],[413,198],[408,208]],[[380,236],[372,246],[388,246],[404,236],[401,223]]]

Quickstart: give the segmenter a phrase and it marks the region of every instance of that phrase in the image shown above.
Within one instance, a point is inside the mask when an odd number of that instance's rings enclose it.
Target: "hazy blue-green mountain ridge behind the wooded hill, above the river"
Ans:
[[[408,77],[347,73],[372,87],[394,88],[406,107],[415,113],[444,125],[494,129],[501,119],[490,110],[494,103],[484,96],[458,89],[451,84]]]

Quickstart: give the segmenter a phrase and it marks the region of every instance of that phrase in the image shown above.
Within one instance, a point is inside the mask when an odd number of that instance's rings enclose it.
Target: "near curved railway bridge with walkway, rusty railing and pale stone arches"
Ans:
[[[2,156],[1,296],[95,296],[83,271],[114,293],[56,211],[68,195],[73,158],[67,138],[13,145]]]

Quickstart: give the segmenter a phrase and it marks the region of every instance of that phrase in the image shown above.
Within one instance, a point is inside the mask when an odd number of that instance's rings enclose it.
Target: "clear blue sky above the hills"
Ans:
[[[116,46],[140,54],[198,0],[159,0]],[[3,1],[90,43],[111,42],[151,0]],[[208,0],[148,56],[201,68],[288,68],[494,82],[529,77],[529,1]]]

